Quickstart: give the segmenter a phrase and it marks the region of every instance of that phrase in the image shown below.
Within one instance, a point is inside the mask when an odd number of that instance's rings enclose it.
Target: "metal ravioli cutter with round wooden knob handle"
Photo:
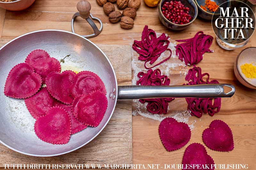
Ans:
[[[94,31],[94,33],[92,33],[92,34],[82,35],[82,36],[85,38],[92,38],[92,37],[99,35],[100,32],[102,31],[103,25],[99,18],[93,17],[92,14],[90,14],[91,4],[86,0],[82,0],[77,3],[76,8],[79,12],[76,12],[72,17],[72,20],[71,20],[72,32],[75,33],[75,30],[74,30],[75,18],[80,16],[80,17],[84,18],[90,24],[90,26],[92,27],[92,29]],[[93,22],[92,19],[100,22],[100,29],[98,29],[98,27],[95,25],[95,23]]]

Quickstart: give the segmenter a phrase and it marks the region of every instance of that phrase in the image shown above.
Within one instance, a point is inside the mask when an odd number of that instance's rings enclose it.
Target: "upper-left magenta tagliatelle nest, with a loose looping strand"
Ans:
[[[164,33],[157,38],[156,32],[154,30],[148,29],[148,26],[144,27],[141,35],[141,41],[135,40],[132,44],[132,48],[137,53],[139,53],[139,60],[145,61],[144,66],[146,69],[156,67],[157,65],[164,63],[171,57],[172,51],[168,48],[168,45],[170,44],[170,41],[168,39],[169,37],[166,36]],[[169,50],[171,52],[169,57],[155,64],[152,67],[146,66],[148,62],[149,64],[155,63],[158,57],[160,57],[160,55],[166,50]]]

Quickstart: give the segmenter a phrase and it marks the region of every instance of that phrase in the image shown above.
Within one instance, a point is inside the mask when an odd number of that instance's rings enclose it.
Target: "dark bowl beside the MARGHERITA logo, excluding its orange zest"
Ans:
[[[217,17],[220,14],[220,11],[216,11],[216,13],[214,15],[213,15],[214,12],[209,11],[208,9],[207,9],[207,11],[204,11],[201,8],[201,5],[202,6],[205,5],[205,0],[195,0],[195,1],[196,1],[196,5],[198,7],[198,16],[199,17],[206,19],[206,20],[212,20],[212,16],[214,18],[215,16]],[[212,1],[214,1],[217,5],[223,4],[224,2],[228,2],[228,3],[226,3],[226,7],[230,6],[229,0],[212,0]]]

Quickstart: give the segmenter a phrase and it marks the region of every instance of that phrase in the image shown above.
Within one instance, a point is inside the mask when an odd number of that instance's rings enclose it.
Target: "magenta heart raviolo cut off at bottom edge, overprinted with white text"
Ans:
[[[186,165],[196,165],[196,167],[193,168],[194,170],[214,170],[214,161],[212,157],[207,154],[205,147],[198,143],[190,144],[186,148],[183,155],[182,164],[182,170],[192,169],[190,166],[186,167]]]

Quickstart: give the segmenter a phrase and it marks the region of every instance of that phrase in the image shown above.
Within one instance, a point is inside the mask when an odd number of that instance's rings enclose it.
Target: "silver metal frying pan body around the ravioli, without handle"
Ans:
[[[75,33],[61,30],[41,30],[24,34],[0,48],[0,142],[10,149],[32,156],[56,156],[72,152],[96,137],[113,114],[117,98],[108,99],[108,108],[96,128],[87,127],[70,137],[67,144],[49,144],[34,132],[35,119],[29,114],[22,99],[4,95],[4,84],[9,71],[34,49],[44,49],[58,60],[70,54],[64,64],[98,74],[109,92],[117,90],[115,72],[107,56],[91,41]],[[63,64],[62,64],[63,65]],[[61,66],[62,66],[61,65]]]

